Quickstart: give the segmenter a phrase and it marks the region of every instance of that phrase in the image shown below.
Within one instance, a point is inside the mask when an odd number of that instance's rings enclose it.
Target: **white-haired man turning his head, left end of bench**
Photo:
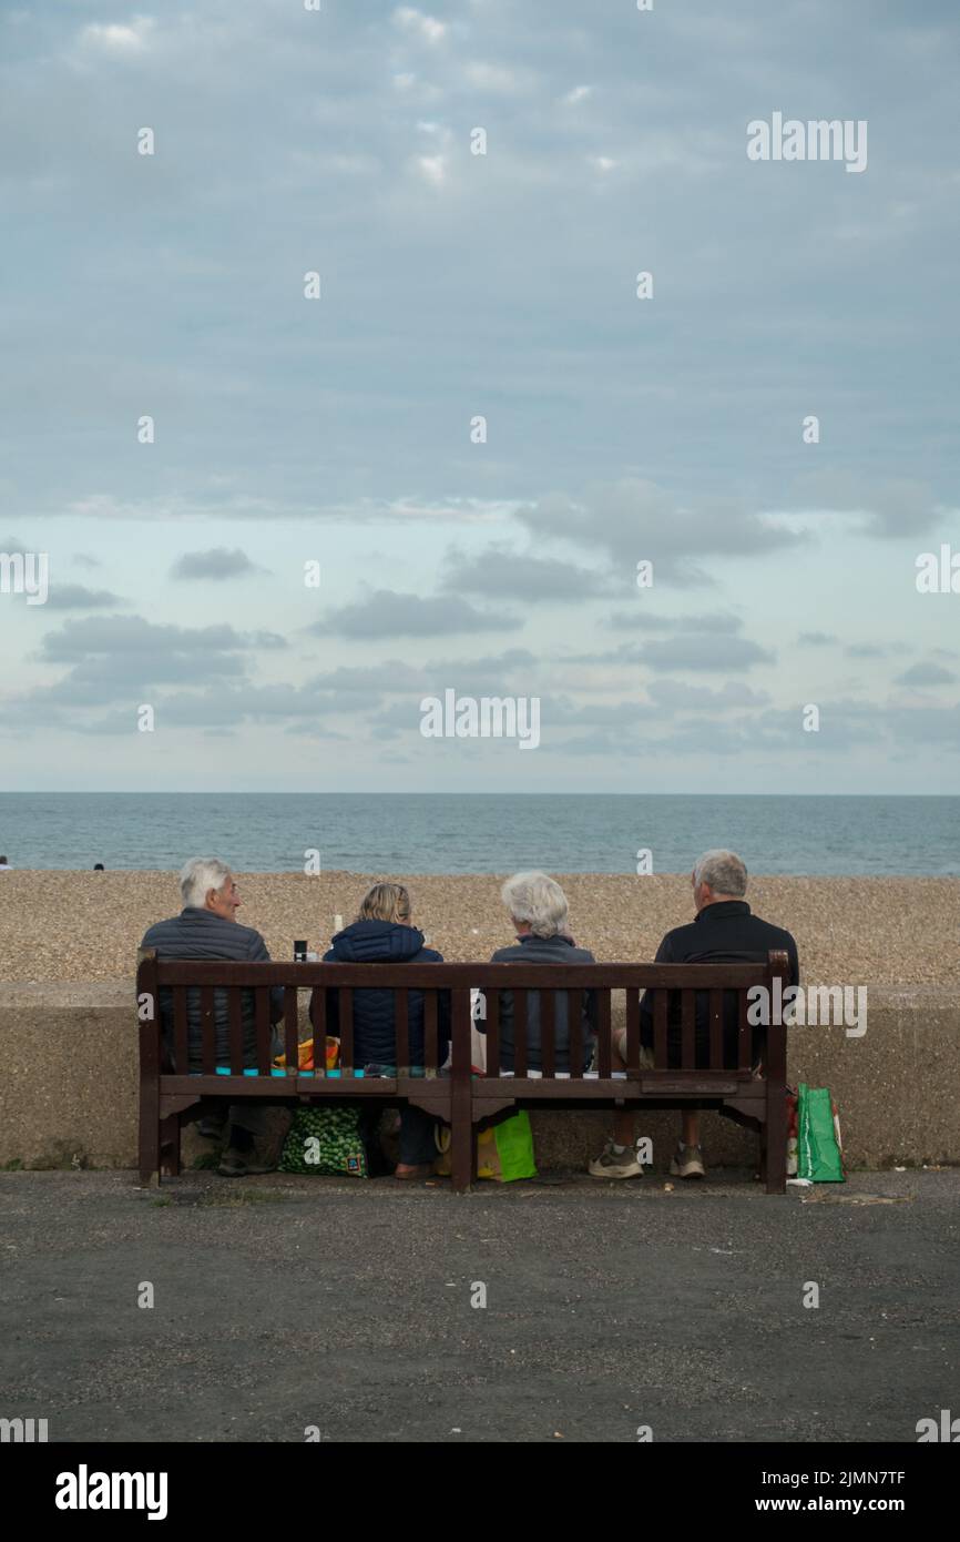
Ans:
[[[234,959],[237,962],[270,964],[267,944],[253,927],[237,921],[240,893],[231,870],[219,857],[193,857],[180,871],[180,894],[183,910],[170,921],[159,921],[146,931],[142,948],[156,948],[159,959]],[[256,1067],[256,1018],[253,992],[242,993],[243,1016],[243,1066]],[[284,992],[274,987],[270,993],[270,1021],[284,1016]],[[190,1067],[177,1066],[177,1072],[202,1070],[200,1056],[200,992],[191,987],[186,993],[186,1021],[190,1033]],[[160,990],[160,1022],[170,1052],[173,1053],[173,995]],[[219,1064],[230,1064],[230,1015],[227,992],[214,993],[216,1056]],[[200,1135],[216,1138],[228,1124],[227,1150],[219,1172],[225,1178],[242,1178],[245,1173],[273,1172],[274,1163],[263,1160],[257,1140],[265,1132],[268,1104],[245,1098],[233,1103],[223,1113],[222,1099],[211,1099],[210,1112],[200,1119]]]

